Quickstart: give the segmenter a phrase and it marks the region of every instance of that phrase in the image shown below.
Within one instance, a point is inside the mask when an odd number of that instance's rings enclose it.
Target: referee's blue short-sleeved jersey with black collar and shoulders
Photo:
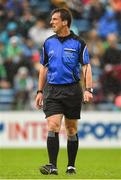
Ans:
[[[67,37],[53,35],[43,46],[40,63],[48,67],[49,84],[69,84],[80,80],[80,64],[89,63],[85,42],[73,32]]]

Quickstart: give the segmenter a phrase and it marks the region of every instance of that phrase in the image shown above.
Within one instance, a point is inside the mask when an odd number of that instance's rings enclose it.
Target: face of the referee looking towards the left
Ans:
[[[59,33],[65,25],[64,21],[62,21],[60,17],[59,12],[52,15],[50,24],[55,33]]]

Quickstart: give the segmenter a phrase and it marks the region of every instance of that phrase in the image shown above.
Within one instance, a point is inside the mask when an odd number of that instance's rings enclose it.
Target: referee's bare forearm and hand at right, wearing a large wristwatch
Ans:
[[[82,66],[82,74],[81,74],[81,80],[82,80],[82,87],[84,91],[84,102],[89,102],[93,98],[92,94],[92,71],[91,71],[91,65],[85,64]]]

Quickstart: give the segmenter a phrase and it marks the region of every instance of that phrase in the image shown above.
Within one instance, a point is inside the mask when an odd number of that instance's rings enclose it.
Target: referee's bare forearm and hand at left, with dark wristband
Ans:
[[[48,70],[47,67],[40,65],[38,91],[37,91],[37,96],[35,100],[37,109],[40,109],[42,107],[43,89],[46,83],[47,70]]]

